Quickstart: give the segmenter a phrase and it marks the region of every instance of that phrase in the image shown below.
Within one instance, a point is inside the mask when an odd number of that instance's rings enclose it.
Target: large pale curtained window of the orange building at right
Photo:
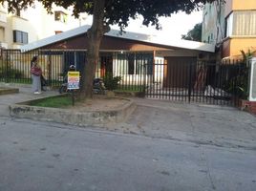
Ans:
[[[225,19],[225,33],[230,35],[256,35],[256,11],[234,11]]]

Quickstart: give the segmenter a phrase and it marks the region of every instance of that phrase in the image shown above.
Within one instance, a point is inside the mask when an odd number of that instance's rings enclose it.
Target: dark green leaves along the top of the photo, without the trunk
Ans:
[[[63,8],[74,7],[74,14],[80,12],[94,14],[96,2],[104,2],[104,24],[117,24],[120,29],[128,26],[129,19],[136,19],[138,15],[143,16],[143,25],[153,25],[160,29],[159,17],[171,16],[178,11],[199,10],[206,2],[215,0],[37,0],[41,2],[47,11],[51,11],[53,4]],[[8,2],[8,10],[11,12],[19,9],[32,7],[34,0],[0,0],[0,3]]]

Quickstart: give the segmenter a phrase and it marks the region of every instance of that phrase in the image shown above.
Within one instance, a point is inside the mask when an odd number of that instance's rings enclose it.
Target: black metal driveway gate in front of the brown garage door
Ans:
[[[236,105],[245,96],[245,62],[206,62],[193,57],[156,61],[145,96],[185,102]]]

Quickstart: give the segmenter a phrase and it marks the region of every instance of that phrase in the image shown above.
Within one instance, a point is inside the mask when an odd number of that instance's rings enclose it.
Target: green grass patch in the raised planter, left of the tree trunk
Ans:
[[[32,101],[32,106],[65,108],[72,105],[71,96],[52,96],[40,100]]]

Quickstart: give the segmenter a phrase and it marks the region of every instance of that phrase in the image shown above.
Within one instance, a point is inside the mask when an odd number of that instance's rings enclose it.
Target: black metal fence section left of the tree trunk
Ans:
[[[38,50],[22,53],[20,50],[2,50],[0,58],[0,81],[7,83],[32,83],[31,60],[38,56],[48,85],[60,86],[63,76],[67,74],[69,65],[75,65],[77,70],[83,70],[85,63],[84,51],[53,51]]]

